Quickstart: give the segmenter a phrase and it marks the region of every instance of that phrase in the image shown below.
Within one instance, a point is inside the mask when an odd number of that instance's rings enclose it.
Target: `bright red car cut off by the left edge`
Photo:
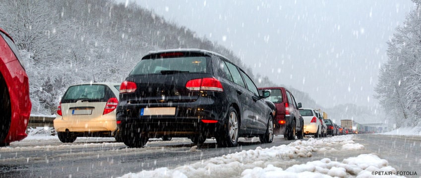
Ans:
[[[0,146],[24,139],[31,113],[29,82],[13,39],[0,28]]]

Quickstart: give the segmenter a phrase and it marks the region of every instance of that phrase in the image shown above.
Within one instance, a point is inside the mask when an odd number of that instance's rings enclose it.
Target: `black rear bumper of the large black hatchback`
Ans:
[[[200,100],[200,101],[199,101]],[[218,100],[202,98],[191,103],[152,103],[152,104],[120,104],[117,108],[117,120],[120,131],[137,130],[147,132],[150,136],[168,135],[172,137],[188,137],[205,131],[215,135],[223,126],[226,114],[224,104]],[[219,100],[221,101],[221,100]],[[142,108],[176,108],[172,116],[140,116]],[[205,123],[212,120],[215,123]]]

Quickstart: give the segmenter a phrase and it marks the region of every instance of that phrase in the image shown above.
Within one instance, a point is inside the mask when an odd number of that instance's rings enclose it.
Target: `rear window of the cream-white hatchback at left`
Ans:
[[[105,85],[75,85],[70,86],[63,96],[67,102],[76,102],[78,100],[94,101],[103,100],[106,95]]]

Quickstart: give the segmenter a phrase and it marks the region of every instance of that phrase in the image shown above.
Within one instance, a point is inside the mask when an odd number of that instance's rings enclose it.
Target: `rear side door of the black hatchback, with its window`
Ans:
[[[240,122],[240,129],[242,132],[251,132],[252,129],[254,129],[253,125],[253,100],[251,98],[251,92],[248,91],[245,87],[245,83],[241,77],[240,71],[234,64],[225,61],[225,64],[227,65],[231,76],[233,77],[233,81],[236,84],[233,84],[233,87],[237,91],[237,97],[239,100],[239,107],[240,107],[240,113],[241,115],[241,122]]]

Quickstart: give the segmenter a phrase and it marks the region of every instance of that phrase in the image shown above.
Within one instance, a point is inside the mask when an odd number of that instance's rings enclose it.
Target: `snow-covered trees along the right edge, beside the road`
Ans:
[[[397,127],[421,123],[421,0],[388,44],[388,61],[379,71],[376,98]]]

